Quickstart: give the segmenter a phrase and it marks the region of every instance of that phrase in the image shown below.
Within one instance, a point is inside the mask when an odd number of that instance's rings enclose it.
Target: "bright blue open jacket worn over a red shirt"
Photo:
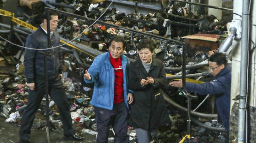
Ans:
[[[121,60],[124,73],[124,102],[128,108],[127,70],[129,63],[128,58],[124,55],[121,55]],[[84,78],[85,83],[94,83],[91,104],[96,107],[112,110],[114,103],[115,73],[110,63],[109,52],[97,56],[88,69],[88,72],[92,79],[89,81]]]

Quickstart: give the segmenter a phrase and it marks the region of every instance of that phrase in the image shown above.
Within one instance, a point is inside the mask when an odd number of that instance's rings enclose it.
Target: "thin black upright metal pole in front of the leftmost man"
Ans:
[[[51,32],[50,32],[50,13],[47,11],[47,40],[48,48],[51,47]],[[50,119],[49,119],[49,83],[48,83],[48,65],[47,65],[47,55],[44,55],[44,73],[45,73],[45,99],[46,99],[46,133],[47,141],[50,143]]]

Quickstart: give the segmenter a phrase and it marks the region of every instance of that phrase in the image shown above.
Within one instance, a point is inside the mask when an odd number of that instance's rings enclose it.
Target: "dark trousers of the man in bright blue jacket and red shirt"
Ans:
[[[114,143],[128,143],[128,109],[124,102],[114,104],[112,110],[95,107],[94,111],[98,129],[97,143],[108,143],[110,125],[112,125],[115,132]]]

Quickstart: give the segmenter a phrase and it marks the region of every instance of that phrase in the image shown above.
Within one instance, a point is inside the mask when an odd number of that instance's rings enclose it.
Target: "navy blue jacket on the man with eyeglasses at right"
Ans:
[[[201,95],[216,94],[216,106],[218,114],[226,130],[229,130],[231,89],[231,66],[227,65],[218,73],[212,81],[202,84],[186,82],[188,92],[197,92]]]

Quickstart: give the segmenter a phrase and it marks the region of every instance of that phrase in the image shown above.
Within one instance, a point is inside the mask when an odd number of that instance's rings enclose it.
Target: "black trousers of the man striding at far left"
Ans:
[[[73,135],[75,130],[72,128],[70,107],[60,76],[49,78],[49,94],[60,112],[64,135]],[[20,126],[20,140],[30,139],[31,126],[44,95],[45,79],[43,77],[36,77],[35,90],[29,90],[28,104],[23,112]]]

